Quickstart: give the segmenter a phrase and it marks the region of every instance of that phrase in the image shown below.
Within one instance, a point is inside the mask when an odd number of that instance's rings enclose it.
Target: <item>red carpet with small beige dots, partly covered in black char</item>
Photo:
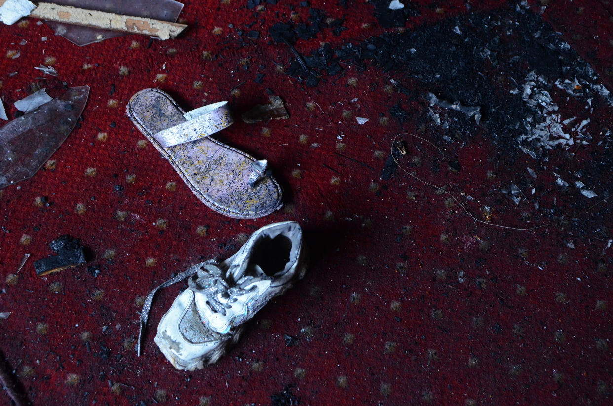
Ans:
[[[18,393],[34,405],[609,404],[613,6],[259,2],[185,1],[189,28],[164,42],[80,48],[36,20],[0,28],[11,119],[36,89],[91,86],[80,128],[0,192],[0,351]],[[59,77],[41,79],[40,64]],[[238,119],[215,137],[268,159],[283,208],[235,220],[200,203],[125,115],[149,87],[185,110],[229,100],[237,118],[281,96],[289,119]],[[480,107],[479,124],[428,92]],[[557,124],[572,144],[529,139]],[[302,225],[311,266],[229,355],[186,373],[160,353],[157,322],[181,283],[154,301],[136,356],[151,288],[284,220]],[[37,277],[61,235],[88,263]]]

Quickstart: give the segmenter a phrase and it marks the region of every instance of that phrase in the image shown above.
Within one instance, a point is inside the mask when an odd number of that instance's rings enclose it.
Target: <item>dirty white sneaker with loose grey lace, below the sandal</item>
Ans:
[[[189,277],[188,288],[160,320],[154,341],[175,368],[201,369],[238,342],[245,321],[304,276],[304,257],[300,226],[296,222],[271,224],[253,233],[236,254],[219,265],[200,263],[167,280],[145,299],[139,355],[151,301],[160,288]]]

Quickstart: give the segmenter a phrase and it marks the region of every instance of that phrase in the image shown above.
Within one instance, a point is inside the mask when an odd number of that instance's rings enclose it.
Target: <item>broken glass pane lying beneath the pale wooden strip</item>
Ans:
[[[183,9],[183,4],[173,0],[53,0],[44,2],[53,2],[53,4],[59,4],[60,6],[131,15],[133,17],[153,18],[154,20],[171,21],[173,23],[177,21],[179,13]],[[110,31],[109,29],[82,27],[55,21],[46,22],[55,31],[56,35],[63,36],[80,47],[108,38],[126,35],[125,32]]]

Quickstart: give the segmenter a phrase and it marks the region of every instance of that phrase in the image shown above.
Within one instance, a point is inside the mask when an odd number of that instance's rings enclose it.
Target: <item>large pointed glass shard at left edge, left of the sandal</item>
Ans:
[[[0,129],[0,189],[28,179],[66,140],[83,113],[89,86],[66,93]]]

